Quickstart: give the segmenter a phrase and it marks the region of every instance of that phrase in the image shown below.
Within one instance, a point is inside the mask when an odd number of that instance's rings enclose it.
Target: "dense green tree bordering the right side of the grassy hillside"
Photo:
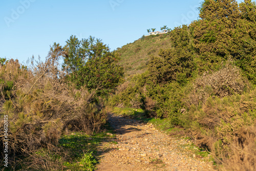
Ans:
[[[186,82],[194,71],[192,52],[189,46],[187,26],[175,28],[170,33],[174,49],[160,50],[159,56],[152,56],[147,65],[149,78],[156,83]]]

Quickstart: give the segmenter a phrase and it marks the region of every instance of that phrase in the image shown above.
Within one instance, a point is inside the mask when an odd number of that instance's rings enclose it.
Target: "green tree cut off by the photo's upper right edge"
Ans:
[[[256,5],[245,0],[240,3],[241,18],[232,32],[232,53],[244,75],[256,83]]]

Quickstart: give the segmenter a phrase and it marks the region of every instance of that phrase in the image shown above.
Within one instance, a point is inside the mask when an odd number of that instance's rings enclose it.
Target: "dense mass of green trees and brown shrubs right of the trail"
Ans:
[[[220,169],[255,170],[256,5],[205,0],[199,16],[172,30],[172,47],[152,55],[112,102],[184,127]]]

